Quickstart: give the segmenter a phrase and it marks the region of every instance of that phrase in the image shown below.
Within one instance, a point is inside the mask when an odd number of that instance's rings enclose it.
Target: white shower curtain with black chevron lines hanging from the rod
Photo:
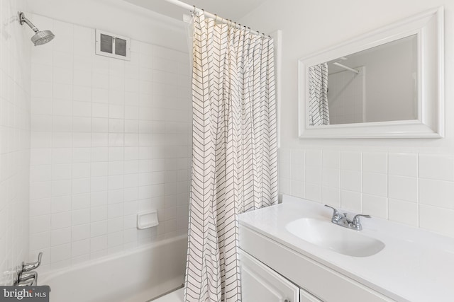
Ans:
[[[238,221],[277,203],[273,41],[194,16],[185,301],[241,301]]]

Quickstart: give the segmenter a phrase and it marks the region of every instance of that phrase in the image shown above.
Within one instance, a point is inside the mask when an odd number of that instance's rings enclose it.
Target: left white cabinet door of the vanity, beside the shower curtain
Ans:
[[[243,302],[299,302],[299,288],[240,250]]]

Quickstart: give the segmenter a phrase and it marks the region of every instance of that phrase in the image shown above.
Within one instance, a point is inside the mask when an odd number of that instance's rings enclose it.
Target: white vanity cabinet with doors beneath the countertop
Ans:
[[[394,301],[241,224],[240,250],[244,302]]]

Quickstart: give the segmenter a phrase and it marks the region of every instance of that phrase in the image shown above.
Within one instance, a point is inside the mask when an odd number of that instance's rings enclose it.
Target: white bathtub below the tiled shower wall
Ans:
[[[181,286],[187,236],[41,274],[50,302],[145,302]]]

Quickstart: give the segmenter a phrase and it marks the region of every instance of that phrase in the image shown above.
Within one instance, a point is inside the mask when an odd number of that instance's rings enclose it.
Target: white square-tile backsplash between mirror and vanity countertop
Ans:
[[[454,155],[281,149],[279,187],[454,237]]]

